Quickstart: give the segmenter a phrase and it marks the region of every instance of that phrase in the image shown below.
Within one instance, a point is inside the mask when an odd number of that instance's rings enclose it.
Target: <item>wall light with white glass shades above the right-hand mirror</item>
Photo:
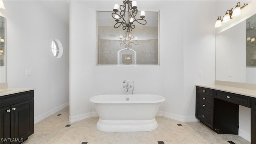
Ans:
[[[244,8],[245,6],[247,6],[248,4],[245,4],[240,7],[240,2],[238,2],[236,4],[236,7],[234,8],[231,8],[230,10],[227,10],[226,11],[226,14],[223,16],[223,19],[221,20],[221,16],[218,16],[218,19],[216,20],[215,22],[215,26],[214,28],[218,28],[222,25],[222,22],[228,22],[230,19],[234,18],[235,16],[238,16],[241,14],[241,9]]]

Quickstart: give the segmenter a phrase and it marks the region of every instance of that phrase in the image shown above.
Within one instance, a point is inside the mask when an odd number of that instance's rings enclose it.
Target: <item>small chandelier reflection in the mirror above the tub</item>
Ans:
[[[134,38],[132,32],[125,32],[123,36],[124,39],[122,38],[122,35],[119,36],[119,44],[120,46],[124,46],[125,48],[127,48],[127,50],[129,50],[129,48],[132,48],[132,44],[139,44],[138,37],[135,37],[135,41],[132,41],[132,39]]]

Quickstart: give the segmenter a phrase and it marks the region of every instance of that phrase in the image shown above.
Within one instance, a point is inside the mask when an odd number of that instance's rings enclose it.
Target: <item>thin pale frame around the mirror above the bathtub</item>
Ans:
[[[160,10],[145,10],[145,12],[158,12],[158,64],[98,64],[98,12],[112,12],[112,10],[96,10],[96,66],[160,66]]]

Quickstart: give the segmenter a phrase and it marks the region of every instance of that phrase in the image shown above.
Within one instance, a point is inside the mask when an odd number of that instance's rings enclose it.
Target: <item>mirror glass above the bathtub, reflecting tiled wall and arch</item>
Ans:
[[[114,28],[116,21],[112,12],[98,11],[96,64],[159,65],[158,12],[145,12],[145,16],[146,25],[134,22],[136,27],[130,31],[134,44],[127,49],[122,43],[129,36],[126,30]]]

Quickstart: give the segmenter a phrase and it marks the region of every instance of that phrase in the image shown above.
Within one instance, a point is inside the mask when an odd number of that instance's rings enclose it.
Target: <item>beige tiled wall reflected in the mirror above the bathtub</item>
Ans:
[[[118,64],[117,52],[125,48],[119,44],[119,35],[124,32],[113,26],[98,26],[98,64]],[[137,54],[136,64],[158,64],[158,27],[136,26],[132,35],[139,42],[131,48]]]

